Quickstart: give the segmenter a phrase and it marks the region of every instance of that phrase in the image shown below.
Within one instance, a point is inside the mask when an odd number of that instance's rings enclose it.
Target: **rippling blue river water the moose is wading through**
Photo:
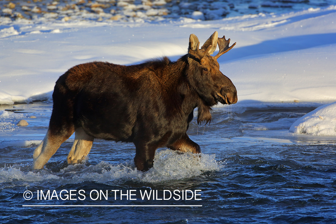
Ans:
[[[45,169],[32,171],[32,153],[47,129],[51,105],[14,105],[29,113],[0,118],[1,223],[336,223],[336,139],[288,131],[312,107],[215,109],[209,126],[193,121],[188,131],[201,155],[161,148],[147,172],[135,169],[132,144],[104,140],[94,142],[85,164],[67,166],[71,139]],[[27,127],[9,125],[22,118]],[[24,199],[26,190],[32,199]],[[48,190],[57,196],[49,200]],[[76,200],[57,199],[62,190],[73,190]],[[94,190],[104,193],[101,199],[95,200]],[[127,199],[127,190],[136,200]],[[151,190],[158,192],[154,199],[141,198]],[[190,190],[188,200],[176,195],[159,200],[174,190]],[[201,200],[192,198],[195,190]],[[46,198],[37,198],[41,191]]]

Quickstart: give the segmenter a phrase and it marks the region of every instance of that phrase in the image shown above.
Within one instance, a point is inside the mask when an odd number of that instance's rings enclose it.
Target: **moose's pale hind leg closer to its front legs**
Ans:
[[[75,131],[75,141],[68,155],[68,164],[81,163],[89,154],[94,138],[87,135],[82,128]]]

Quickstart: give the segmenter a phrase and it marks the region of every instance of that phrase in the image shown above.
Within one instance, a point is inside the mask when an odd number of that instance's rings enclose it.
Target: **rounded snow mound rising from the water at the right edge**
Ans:
[[[290,127],[297,134],[336,136],[336,102],[320,106]]]

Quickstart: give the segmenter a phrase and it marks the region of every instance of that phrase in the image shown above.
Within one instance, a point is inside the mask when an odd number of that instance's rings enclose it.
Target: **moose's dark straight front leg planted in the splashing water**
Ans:
[[[153,167],[157,146],[151,144],[135,144],[134,163],[136,169],[147,171]]]

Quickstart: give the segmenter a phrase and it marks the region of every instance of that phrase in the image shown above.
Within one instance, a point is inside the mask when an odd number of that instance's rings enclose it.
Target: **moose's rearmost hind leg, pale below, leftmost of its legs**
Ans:
[[[42,142],[34,150],[33,169],[42,169],[59,146],[67,140],[73,132],[65,132],[63,135],[53,134],[49,128]]]

